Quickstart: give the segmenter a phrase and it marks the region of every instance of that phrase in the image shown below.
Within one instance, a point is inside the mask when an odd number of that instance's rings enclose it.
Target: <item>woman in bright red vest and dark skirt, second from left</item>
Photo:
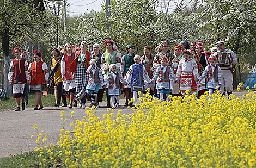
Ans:
[[[33,51],[34,62],[28,67],[28,74],[31,77],[29,92],[35,92],[34,110],[41,110],[42,106],[41,92],[47,91],[46,84],[49,77],[48,67],[42,61],[41,52]],[[38,104],[40,105],[38,108]]]

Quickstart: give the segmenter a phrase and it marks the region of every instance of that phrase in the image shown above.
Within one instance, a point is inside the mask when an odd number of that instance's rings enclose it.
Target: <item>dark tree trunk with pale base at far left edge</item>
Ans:
[[[4,35],[2,36],[3,46],[3,58],[4,58],[4,89],[7,91],[7,95],[11,96],[12,89],[8,80],[8,73],[10,67],[10,54],[9,54],[9,29],[5,29]]]

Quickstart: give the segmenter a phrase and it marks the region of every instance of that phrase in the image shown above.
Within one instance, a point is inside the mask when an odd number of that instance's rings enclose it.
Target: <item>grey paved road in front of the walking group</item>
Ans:
[[[235,92],[237,97],[247,94],[247,92]],[[0,102],[1,103],[1,102]],[[120,100],[121,107],[114,111],[123,110],[123,114],[132,114],[132,110],[125,108],[123,105],[124,99]],[[89,105],[89,104],[87,104]],[[102,108],[97,109],[95,116],[102,119],[106,111],[106,102],[100,103]],[[21,152],[32,151],[36,147],[36,136],[31,139],[31,135],[36,135],[33,125],[37,124],[39,131],[44,130],[45,135],[48,136],[46,144],[57,144],[59,140],[58,130],[62,129],[60,112],[65,111],[66,118],[65,129],[70,130],[71,111],[75,111],[75,118],[82,120],[85,115],[84,109],[81,108],[56,108],[45,107],[42,110],[34,111],[34,109],[26,109],[25,111],[0,111],[0,158],[8,157],[13,154]],[[109,113],[112,113],[110,111]]]

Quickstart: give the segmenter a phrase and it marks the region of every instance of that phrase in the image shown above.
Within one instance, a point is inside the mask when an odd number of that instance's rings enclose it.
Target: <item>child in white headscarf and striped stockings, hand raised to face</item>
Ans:
[[[99,108],[98,96],[97,93],[99,91],[100,85],[105,87],[103,78],[102,78],[102,71],[99,67],[96,66],[96,59],[90,60],[90,66],[86,70],[86,73],[90,74],[90,78],[88,84],[86,86],[87,94],[90,94],[92,105],[96,108]]]

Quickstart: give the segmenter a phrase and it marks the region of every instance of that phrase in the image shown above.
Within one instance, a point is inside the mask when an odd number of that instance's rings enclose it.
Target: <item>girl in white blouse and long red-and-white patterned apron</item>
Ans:
[[[190,51],[182,51],[184,58],[179,61],[177,76],[180,78],[179,89],[182,95],[185,95],[185,91],[190,91],[190,94],[197,92],[198,82],[198,69],[197,63],[192,58],[190,58]]]

